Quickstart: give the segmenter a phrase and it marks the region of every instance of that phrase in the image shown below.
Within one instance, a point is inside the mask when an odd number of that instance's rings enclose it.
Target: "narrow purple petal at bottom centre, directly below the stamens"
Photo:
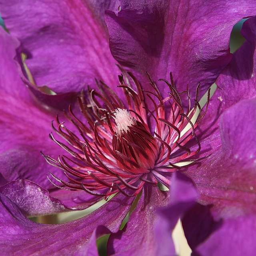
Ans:
[[[168,203],[165,192],[156,186],[145,186],[142,196],[132,212],[126,226],[110,235],[108,240],[108,255],[156,255],[154,240],[154,221],[156,206]]]

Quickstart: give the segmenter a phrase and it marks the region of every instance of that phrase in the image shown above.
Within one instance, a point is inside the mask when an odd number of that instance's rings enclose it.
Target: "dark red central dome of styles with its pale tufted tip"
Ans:
[[[147,173],[155,166],[159,148],[147,126],[136,121],[126,109],[118,108],[114,114],[116,134],[113,136],[114,152],[122,154],[120,168],[130,166],[135,173]]]

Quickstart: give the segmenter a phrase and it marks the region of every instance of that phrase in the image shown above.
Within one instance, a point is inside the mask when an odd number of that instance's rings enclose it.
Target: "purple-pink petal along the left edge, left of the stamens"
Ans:
[[[26,178],[49,188],[46,173],[51,167],[40,150],[54,152],[54,148],[58,148],[47,139],[55,115],[36,106],[18,75],[14,58],[19,42],[3,28],[0,28],[0,36],[3,55],[0,60],[3,67],[0,71],[0,130],[4,134],[0,142],[0,172],[7,181]]]

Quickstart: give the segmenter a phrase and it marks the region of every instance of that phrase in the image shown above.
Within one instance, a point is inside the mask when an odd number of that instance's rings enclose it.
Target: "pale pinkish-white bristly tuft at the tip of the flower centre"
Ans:
[[[116,122],[116,134],[120,136],[123,132],[129,130],[129,126],[136,125],[136,120],[131,116],[126,109],[117,108],[114,113],[114,120]]]

